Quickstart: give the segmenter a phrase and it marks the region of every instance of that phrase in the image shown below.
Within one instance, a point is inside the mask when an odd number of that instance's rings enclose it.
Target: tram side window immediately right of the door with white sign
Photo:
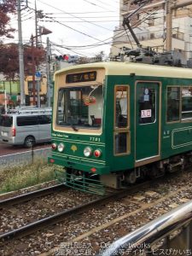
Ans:
[[[167,87],[166,121],[179,120],[180,87]]]

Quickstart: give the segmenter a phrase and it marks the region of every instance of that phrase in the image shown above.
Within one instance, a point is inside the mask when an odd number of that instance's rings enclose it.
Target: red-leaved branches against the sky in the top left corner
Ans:
[[[9,26],[9,14],[15,14],[16,0],[0,0],[0,37],[13,38],[14,28]]]

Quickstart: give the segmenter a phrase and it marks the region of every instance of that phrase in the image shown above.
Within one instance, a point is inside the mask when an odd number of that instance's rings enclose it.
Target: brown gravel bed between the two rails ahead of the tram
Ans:
[[[77,193],[77,191],[68,189],[5,208],[0,216],[0,235],[96,198],[98,198],[96,195]]]

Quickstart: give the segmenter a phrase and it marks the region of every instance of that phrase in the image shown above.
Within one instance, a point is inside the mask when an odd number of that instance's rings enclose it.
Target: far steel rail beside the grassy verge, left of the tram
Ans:
[[[19,204],[21,202],[30,201],[33,198],[37,198],[43,195],[49,195],[51,193],[61,191],[62,189],[67,189],[67,187],[63,183],[51,186],[49,188],[38,189],[36,191],[28,192],[23,195],[16,195],[14,197],[0,201],[0,209],[3,207],[9,207]]]

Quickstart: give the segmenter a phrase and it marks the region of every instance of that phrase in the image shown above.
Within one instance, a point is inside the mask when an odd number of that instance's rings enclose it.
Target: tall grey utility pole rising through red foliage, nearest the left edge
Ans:
[[[26,96],[24,89],[24,60],[23,60],[23,43],[22,43],[22,28],[21,28],[21,15],[20,15],[20,0],[17,0],[17,13],[18,13],[18,38],[19,38],[19,64],[20,64],[20,106],[26,105]]]

